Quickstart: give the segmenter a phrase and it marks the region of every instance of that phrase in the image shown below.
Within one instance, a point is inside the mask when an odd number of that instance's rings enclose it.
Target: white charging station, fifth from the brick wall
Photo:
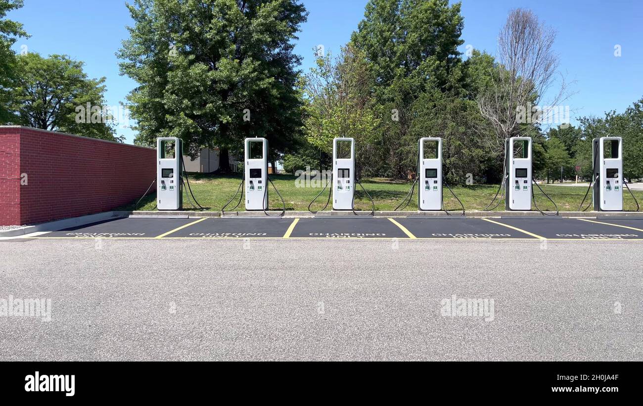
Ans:
[[[511,137],[505,140],[505,208],[531,210],[532,146],[530,137]]]

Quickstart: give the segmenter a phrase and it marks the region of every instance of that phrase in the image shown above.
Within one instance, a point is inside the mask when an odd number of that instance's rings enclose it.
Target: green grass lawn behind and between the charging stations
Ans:
[[[233,197],[235,191],[239,187],[241,182],[240,175],[207,175],[202,173],[190,174],[189,178],[190,185],[192,186],[192,191],[194,196],[201,204],[201,206],[206,207],[210,211],[221,211],[221,207],[228,202],[228,200]],[[298,188],[296,187],[296,177],[294,175],[271,175],[271,179],[275,183],[276,188],[284,197],[285,206],[287,210],[298,210],[305,211],[308,209],[308,204],[318,193],[320,193],[321,188]],[[364,179],[362,181],[364,188],[371,195],[375,201],[376,210],[393,210],[395,207],[404,199],[406,193],[411,188],[412,182],[403,182],[403,181],[392,181],[390,179],[383,178],[371,178]],[[577,211],[581,200],[583,200],[583,195],[587,190],[586,187],[578,186],[552,186],[541,184],[541,188],[547,193],[558,205],[560,211]],[[462,200],[464,207],[467,210],[482,210],[484,209],[491,199],[493,199],[498,190],[498,185],[473,185],[473,186],[453,186],[451,188],[456,195]],[[187,188],[184,190],[183,195],[183,207],[186,210],[191,209],[190,199],[188,199],[188,194],[186,193]],[[328,199],[329,188],[327,188],[324,193],[316,200],[316,202],[311,206],[312,210],[321,209],[324,206]],[[554,205],[547,200],[547,198],[541,195],[538,188],[536,192],[536,203],[538,207],[542,210],[551,211],[554,209]],[[269,188],[269,205],[271,209],[281,209],[282,202],[279,199],[278,195],[273,190],[272,186]],[[643,191],[634,191],[635,196],[637,197],[640,204],[643,206]],[[636,205],[634,204],[631,196],[627,191],[624,191],[624,209],[625,210],[635,210]],[[237,199],[239,196],[237,196]],[[592,199],[592,192],[590,191],[588,195],[588,200],[585,201],[585,204],[590,202]],[[138,200],[138,199],[136,199]],[[120,207],[122,210],[133,210],[134,200],[128,206]],[[226,210],[230,210],[231,207],[234,207],[237,204],[237,200],[230,204]],[[147,195],[141,202],[138,204],[136,209],[138,210],[155,210],[156,206],[156,193],[151,193]],[[356,209],[370,210],[370,201],[366,197],[365,193],[359,188],[357,188],[356,199],[355,199]],[[329,204],[331,209],[332,204]],[[453,198],[451,193],[447,188],[444,188],[444,207],[447,209],[459,209],[460,205],[457,200]],[[504,203],[501,203],[496,211],[504,210]],[[535,207],[532,207],[535,209]],[[592,208],[590,207],[590,210]],[[244,210],[244,204],[241,202],[239,204],[239,210]],[[406,207],[407,211],[417,210],[417,186],[413,192],[413,199],[411,203]]]

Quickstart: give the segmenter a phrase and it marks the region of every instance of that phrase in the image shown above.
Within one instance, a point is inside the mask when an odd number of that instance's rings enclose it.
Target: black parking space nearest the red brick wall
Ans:
[[[194,218],[118,218],[43,234],[41,238],[157,238]]]

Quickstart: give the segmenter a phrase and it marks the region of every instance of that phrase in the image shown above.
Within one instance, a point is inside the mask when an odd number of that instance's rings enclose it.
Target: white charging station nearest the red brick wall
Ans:
[[[183,208],[181,188],[181,157],[183,141],[176,137],[156,139],[158,165],[156,166],[156,207],[159,210],[180,210]]]

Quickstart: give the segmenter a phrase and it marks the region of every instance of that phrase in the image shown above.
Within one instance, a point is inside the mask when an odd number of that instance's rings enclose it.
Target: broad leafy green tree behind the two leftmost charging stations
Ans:
[[[118,56],[138,82],[129,94],[136,142],[183,139],[186,152],[230,150],[267,137],[271,156],[297,143],[302,100],[293,40],[307,13],[296,0],[134,0]]]

